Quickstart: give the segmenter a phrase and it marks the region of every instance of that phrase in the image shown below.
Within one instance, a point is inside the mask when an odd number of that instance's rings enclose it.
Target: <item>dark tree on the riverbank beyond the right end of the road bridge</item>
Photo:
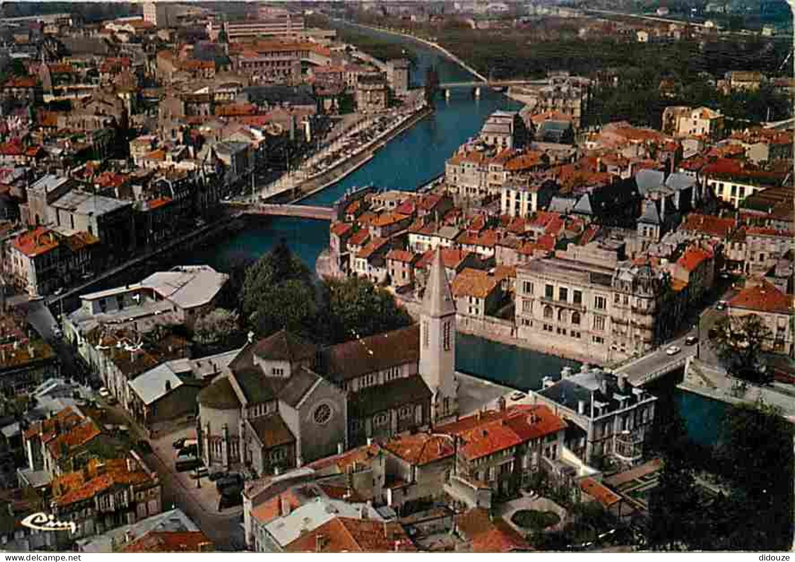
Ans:
[[[748,314],[724,316],[715,324],[710,339],[730,372],[761,381],[765,375],[759,373],[759,359],[762,347],[772,335],[761,316]]]

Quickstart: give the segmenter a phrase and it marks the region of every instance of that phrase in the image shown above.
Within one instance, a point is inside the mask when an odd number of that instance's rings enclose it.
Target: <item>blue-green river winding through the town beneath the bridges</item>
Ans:
[[[359,31],[363,31],[359,29]],[[440,82],[463,81],[471,75],[458,64],[421,43],[380,32],[389,41],[402,43],[413,53],[412,83],[421,85],[428,68],[436,68]],[[444,172],[444,161],[468,138],[475,136],[495,110],[518,110],[520,104],[497,91],[483,91],[473,99],[471,91],[453,91],[452,99],[436,99],[429,118],[390,141],[374,158],[337,184],[304,200],[306,204],[330,205],[347,188],[373,184],[377,188],[412,191]],[[281,238],[307,265],[328,246],[328,223],[306,219],[255,220],[227,240],[215,241],[188,258],[190,263],[208,263],[224,270],[238,258],[258,258]],[[564,366],[579,363],[537,351],[510,347],[486,339],[463,335],[456,345],[456,367],[521,390],[538,389],[545,376],[557,378]],[[693,440],[714,443],[726,405],[691,393],[674,393],[674,404],[684,417]]]

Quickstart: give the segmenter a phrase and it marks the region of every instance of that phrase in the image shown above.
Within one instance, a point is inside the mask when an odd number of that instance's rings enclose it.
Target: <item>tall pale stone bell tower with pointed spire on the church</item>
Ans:
[[[456,381],[456,303],[444,273],[441,248],[433,255],[420,317],[420,374],[432,392],[436,424],[458,412]]]

